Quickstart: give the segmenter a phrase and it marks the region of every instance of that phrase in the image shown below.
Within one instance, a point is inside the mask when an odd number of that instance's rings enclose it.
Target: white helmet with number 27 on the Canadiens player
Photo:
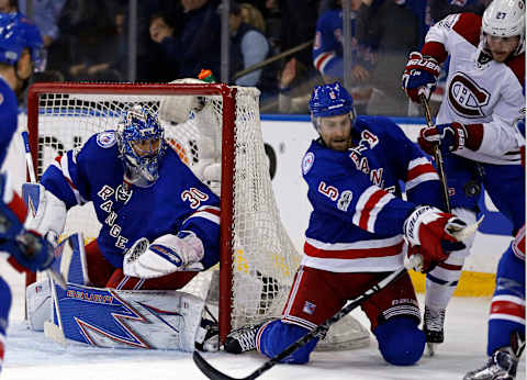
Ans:
[[[525,51],[525,1],[493,0],[483,13],[481,30],[497,37],[519,35],[514,54],[522,54]]]

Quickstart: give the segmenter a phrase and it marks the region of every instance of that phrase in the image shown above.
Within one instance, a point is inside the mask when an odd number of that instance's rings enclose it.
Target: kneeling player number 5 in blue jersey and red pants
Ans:
[[[336,314],[348,300],[400,269],[405,239],[418,247],[421,270],[462,248],[456,231],[464,223],[441,212],[440,187],[430,161],[386,118],[356,116],[338,82],[315,87],[310,109],[319,138],[302,161],[313,206],[304,256],[281,320],[234,331],[225,350],[258,349],[273,357]],[[401,198],[405,183],[407,201]],[[448,247],[447,247],[448,246]],[[425,348],[419,306],[407,272],[361,304],[382,357],[415,364]],[[303,364],[317,338],[285,361]]]

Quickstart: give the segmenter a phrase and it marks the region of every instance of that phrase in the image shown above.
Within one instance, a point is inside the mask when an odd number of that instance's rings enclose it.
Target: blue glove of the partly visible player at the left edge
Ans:
[[[48,269],[55,260],[51,244],[34,231],[23,231],[14,239],[3,239],[0,250],[8,252],[18,265],[31,271]]]

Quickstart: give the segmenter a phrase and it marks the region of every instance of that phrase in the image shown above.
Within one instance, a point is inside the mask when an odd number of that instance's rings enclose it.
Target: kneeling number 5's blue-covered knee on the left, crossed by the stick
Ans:
[[[296,342],[310,331],[298,325],[283,323],[281,321],[272,321],[264,331],[259,332],[257,337],[257,345],[260,353],[272,358],[289,347],[293,342]],[[310,354],[315,349],[318,338],[312,339],[293,354],[288,356],[282,362],[303,365],[310,360]]]

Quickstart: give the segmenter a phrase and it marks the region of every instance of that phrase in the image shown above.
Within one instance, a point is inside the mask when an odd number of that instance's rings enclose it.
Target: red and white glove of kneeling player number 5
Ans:
[[[417,270],[426,273],[445,261],[451,250],[463,249],[464,244],[458,241],[457,234],[466,226],[456,215],[439,209],[428,205],[415,209],[403,228],[411,247],[408,256],[422,256]]]

